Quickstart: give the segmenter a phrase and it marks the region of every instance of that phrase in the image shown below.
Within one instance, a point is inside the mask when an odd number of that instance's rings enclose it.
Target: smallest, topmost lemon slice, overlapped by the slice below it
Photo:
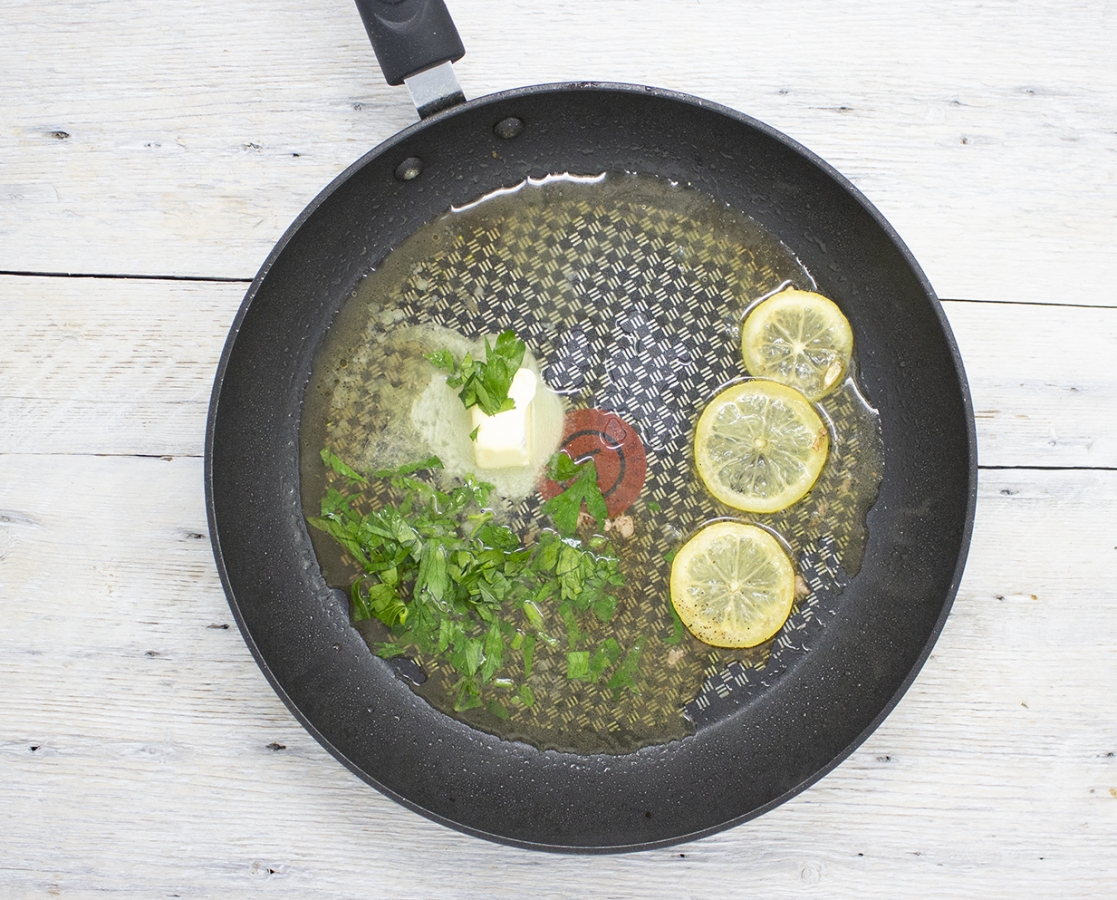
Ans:
[[[853,332],[841,309],[821,294],[783,290],[748,314],[741,352],[748,374],[819,400],[846,377]]]

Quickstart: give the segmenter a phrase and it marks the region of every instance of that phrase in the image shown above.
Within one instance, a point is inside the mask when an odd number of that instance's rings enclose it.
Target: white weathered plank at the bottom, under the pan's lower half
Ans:
[[[767,897],[1090,897],[1117,875],[1114,472],[983,472],[958,600],[885,724],[773,813],[623,858],[458,835],[328,757],[236,626],[211,628],[231,617],[201,495],[197,459],[0,457],[11,896],[676,898],[747,877]]]

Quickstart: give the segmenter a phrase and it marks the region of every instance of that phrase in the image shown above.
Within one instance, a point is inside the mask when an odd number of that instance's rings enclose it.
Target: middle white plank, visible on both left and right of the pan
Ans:
[[[200,454],[244,288],[0,276],[0,452]],[[945,306],[984,465],[1117,467],[1117,308]]]

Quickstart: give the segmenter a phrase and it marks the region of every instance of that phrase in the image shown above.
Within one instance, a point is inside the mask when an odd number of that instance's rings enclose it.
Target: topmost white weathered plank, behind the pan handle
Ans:
[[[942,296],[1115,301],[1110,4],[452,7],[471,96],[588,77],[705,96],[844,172]],[[346,2],[12,0],[4,23],[0,270],[251,277],[414,117]]]

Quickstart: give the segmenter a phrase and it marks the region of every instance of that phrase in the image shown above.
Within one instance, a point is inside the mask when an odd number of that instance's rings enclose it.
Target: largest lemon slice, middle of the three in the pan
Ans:
[[[799,391],[754,379],[715,396],[695,432],[695,463],[709,492],[735,509],[777,513],[811,489],[830,435]]]

